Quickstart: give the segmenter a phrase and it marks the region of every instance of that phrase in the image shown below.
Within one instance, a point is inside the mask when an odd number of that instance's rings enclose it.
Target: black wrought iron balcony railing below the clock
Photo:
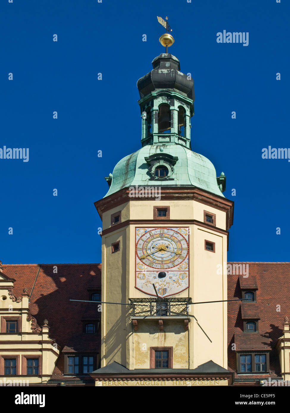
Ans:
[[[180,317],[188,316],[191,298],[129,298],[133,317]]]

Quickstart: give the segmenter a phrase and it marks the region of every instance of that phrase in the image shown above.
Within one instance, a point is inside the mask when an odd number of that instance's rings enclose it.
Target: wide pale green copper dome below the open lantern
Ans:
[[[169,170],[164,180],[153,178],[154,169],[160,164]],[[135,185],[193,186],[224,197],[211,161],[175,143],[146,145],[121,159],[114,168],[111,185],[105,197]]]

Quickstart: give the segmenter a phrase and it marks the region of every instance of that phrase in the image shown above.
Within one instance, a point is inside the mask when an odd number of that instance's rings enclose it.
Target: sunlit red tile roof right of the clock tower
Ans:
[[[235,264],[229,262],[228,264]],[[228,299],[242,298],[240,281],[246,280],[248,285],[257,285],[256,301],[259,306],[259,333],[243,333],[242,311],[240,302],[228,302],[228,366],[235,371],[237,378],[261,378],[261,375],[239,374],[237,376],[237,354],[232,351],[232,343],[238,340],[238,348],[242,346],[261,346],[266,342],[263,334],[268,333],[272,351],[270,352],[271,377],[280,377],[280,363],[275,345],[283,335],[285,316],[290,316],[290,262],[244,262],[249,265],[249,277],[228,275]],[[254,304],[244,303],[246,306]],[[259,340],[258,338],[259,337]],[[261,340],[261,341],[260,341]],[[266,345],[266,344],[265,344]],[[238,351],[238,349],[237,349]]]

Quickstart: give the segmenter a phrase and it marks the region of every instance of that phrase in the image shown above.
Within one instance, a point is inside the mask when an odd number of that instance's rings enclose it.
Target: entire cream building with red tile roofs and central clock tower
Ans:
[[[141,148],[117,163],[95,202],[102,265],[0,268],[0,380],[290,379],[290,263],[227,262],[233,202],[224,173],[191,150],[194,82],[167,50],[152,65],[137,82]]]

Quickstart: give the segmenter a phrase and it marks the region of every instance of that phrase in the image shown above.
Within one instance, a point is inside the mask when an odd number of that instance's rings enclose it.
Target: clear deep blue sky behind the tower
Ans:
[[[290,163],[261,157],[290,147],[288,1],[3,0],[0,15],[0,147],[29,148],[28,162],[0,159],[3,263],[101,262],[93,202],[141,146],[136,83],[163,52],[166,15],[169,51],[194,79],[192,150],[235,201],[228,260],[290,261]],[[217,43],[223,30],[249,32],[249,45]]]

